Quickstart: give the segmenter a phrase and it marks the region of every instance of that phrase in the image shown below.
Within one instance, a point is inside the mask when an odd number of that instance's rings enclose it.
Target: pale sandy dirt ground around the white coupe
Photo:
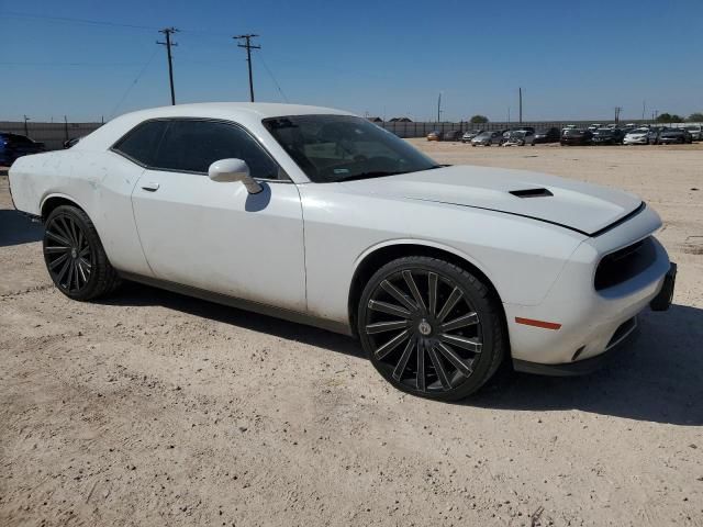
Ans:
[[[0,176],[0,525],[702,526],[703,145],[413,143],[641,195],[674,305],[590,377],[440,404],[323,330],[141,285],[67,300]]]

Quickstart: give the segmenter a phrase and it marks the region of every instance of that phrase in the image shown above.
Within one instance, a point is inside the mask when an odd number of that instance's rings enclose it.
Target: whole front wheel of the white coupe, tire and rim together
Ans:
[[[437,258],[411,256],[380,268],[364,288],[357,321],[361,345],[387,381],[439,401],[481,388],[507,346],[499,299]]]

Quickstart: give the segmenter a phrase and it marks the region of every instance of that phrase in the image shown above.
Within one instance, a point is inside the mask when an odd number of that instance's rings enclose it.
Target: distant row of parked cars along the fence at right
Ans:
[[[703,141],[701,125],[682,127],[637,126],[626,124],[592,124],[585,128],[570,125],[562,130],[549,127],[535,130],[533,126],[520,126],[511,130],[472,130],[461,134],[459,131],[431,132],[427,141],[461,141],[471,146],[524,146],[539,143],[560,143],[561,145],[659,145],[671,143],[692,143]]]

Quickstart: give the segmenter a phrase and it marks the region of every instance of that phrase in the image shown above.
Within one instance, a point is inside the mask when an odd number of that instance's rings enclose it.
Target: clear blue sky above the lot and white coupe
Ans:
[[[178,102],[248,100],[231,36],[250,32],[258,101],[423,120],[443,91],[443,119],[501,121],[522,86],[525,120],[634,119],[643,101],[688,115],[703,111],[702,23],[701,0],[0,0],[0,121],[168,104],[165,26],[181,30]]]

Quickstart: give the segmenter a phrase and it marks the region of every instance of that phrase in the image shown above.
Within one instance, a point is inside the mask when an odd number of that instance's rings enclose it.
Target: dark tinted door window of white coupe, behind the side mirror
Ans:
[[[252,177],[280,179],[279,167],[245,130],[219,121],[174,120],[154,160],[154,168],[208,173],[220,159],[243,159]]]

